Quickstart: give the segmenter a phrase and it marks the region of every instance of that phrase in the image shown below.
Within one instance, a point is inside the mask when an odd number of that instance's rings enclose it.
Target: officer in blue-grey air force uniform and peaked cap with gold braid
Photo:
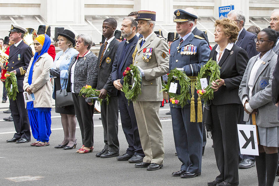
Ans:
[[[198,17],[184,10],[176,10],[176,31],[180,37],[171,44],[169,70],[177,68],[186,73],[193,83],[201,69],[208,61],[210,48],[206,40],[192,33],[195,19]],[[198,95],[194,90],[195,111],[197,111]],[[179,94],[179,90],[176,92]],[[188,103],[190,103],[188,101]],[[203,147],[203,126],[201,122],[190,122],[190,104],[183,108],[170,103],[171,119],[174,132],[174,143],[178,159],[182,162],[180,171],[173,176],[193,178],[201,175],[201,158]],[[196,118],[197,120],[197,118]]]

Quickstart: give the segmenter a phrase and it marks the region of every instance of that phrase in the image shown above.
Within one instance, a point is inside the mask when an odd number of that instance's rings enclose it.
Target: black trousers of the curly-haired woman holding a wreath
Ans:
[[[239,183],[238,135],[239,104],[211,105],[213,146],[220,175],[216,180]]]

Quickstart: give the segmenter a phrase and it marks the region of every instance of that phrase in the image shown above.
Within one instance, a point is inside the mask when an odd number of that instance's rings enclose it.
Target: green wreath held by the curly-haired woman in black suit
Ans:
[[[201,99],[204,101],[212,100],[213,99],[213,92],[214,90],[211,88],[211,82],[215,81],[217,79],[220,79],[220,66],[217,64],[216,61],[212,60],[212,58],[205,64],[203,67],[201,67],[200,72],[198,73],[196,82],[195,82],[195,88],[196,90],[201,90],[201,78],[209,78],[208,86],[205,88],[206,93],[201,95]],[[216,82],[217,83],[217,82]],[[217,83],[218,84],[218,83]]]

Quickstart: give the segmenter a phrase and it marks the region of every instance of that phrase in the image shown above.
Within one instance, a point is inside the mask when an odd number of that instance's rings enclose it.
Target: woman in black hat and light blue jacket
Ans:
[[[50,74],[54,78],[53,99],[56,99],[56,91],[66,88],[68,81],[68,68],[71,59],[78,53],[73,48],[75,44],[75,34],[72,31],[64,30],[58,33],[58,47],[62,51],[56,54],[53,67],[50,69]],[[61,123],[64,130],[64,140],[61,144],[55,146],[57,149],[73,149],[76,147],[76,117],[74,105],[67,107],[58,107],[55,100],[55,112],[60,113]]]

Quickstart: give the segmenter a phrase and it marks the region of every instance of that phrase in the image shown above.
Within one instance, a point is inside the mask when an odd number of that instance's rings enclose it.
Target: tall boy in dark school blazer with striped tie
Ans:
[[[102,44],[97,66],[89,85],[100,91],[99,98],[104,99],[106,94],[110,95],[109,104],[104,101],[101,105],[101,118],[104,128],[103,150],[96,154],[96,157],[111,158],[119,155],[118,141],[118,99],[117,90],[109,80],[112,71],[112,63],[115,58],[119,42],[114,37],[117,22],[113,18],[103,21],[103,36],[106,37],[105,43]]]

